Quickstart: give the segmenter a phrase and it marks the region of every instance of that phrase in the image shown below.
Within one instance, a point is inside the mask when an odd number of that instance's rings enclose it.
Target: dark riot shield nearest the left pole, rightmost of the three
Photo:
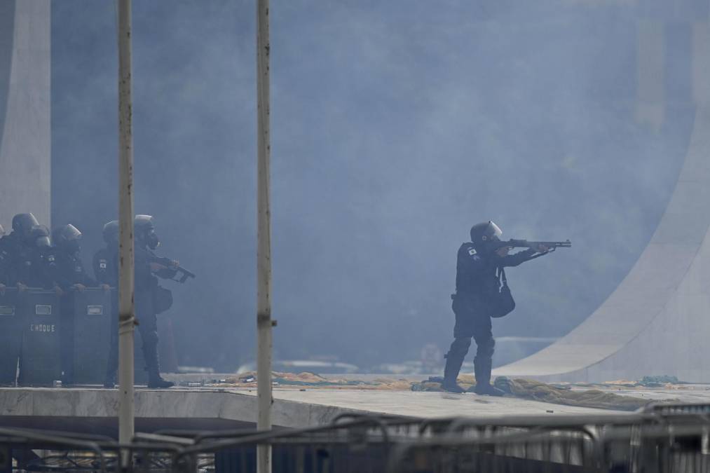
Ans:
[[[87,288],[71,294],[72,381],[102,384],[111,347],[111,291]]]

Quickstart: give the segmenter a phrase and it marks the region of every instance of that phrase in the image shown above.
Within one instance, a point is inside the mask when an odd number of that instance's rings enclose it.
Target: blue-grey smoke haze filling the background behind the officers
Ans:
[[[488,219],[573,242],[509,272],[518,308],[496,337],[561,336],[603,302],[692,128],[681,26],[666,119],[635,120],[645,4],[272,0],[275,359],[445,351],[456,251]],[[159,318],[180,364],[220,371],[256,334],[255,15],[133,2],[135,208],[198,274]],[[113,2],[53,2],[53,224],[84,232],[86,263],[118,207],[115,22]]]

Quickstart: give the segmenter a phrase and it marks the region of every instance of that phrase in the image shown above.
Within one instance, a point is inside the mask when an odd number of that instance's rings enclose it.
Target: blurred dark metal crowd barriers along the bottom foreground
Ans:
[[[599,416],[343,415],[315,428],[139,433],[130,444],[0,428],[0,472],[253,472],[257,445],[271,445],[284,473],[710,472],[709,415],[710,405],[667,404]]]

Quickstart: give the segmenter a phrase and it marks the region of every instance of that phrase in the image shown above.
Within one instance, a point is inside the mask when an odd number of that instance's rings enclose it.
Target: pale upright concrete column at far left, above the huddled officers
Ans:
[[[0,7],[0,224],[50,224],[50,0]],[[6,87],[3,87],[4,82]]]

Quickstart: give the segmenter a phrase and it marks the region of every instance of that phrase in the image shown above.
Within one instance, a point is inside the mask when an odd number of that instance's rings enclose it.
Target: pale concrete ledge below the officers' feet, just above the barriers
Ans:
[[[615,415],[617,411],[559,406],[517,398],[438,392],[346,389],[274,391],[275,427],[332,423],[344,413],[422,418],[506,415]],[[256,391],[234,388],[136,390],[136,430],[222,430],[256,425]],[[118,391],[103,388],[0,388],[0,426],[72,430],[115,437]]]

